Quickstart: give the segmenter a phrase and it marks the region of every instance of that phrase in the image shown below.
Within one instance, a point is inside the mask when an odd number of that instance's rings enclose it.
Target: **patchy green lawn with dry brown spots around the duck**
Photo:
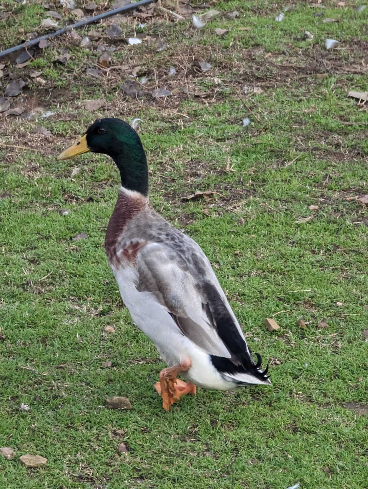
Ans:
[[[6,47],[46,17],[39,3],[3,5],[17,13],[4,21]],[[367,111],[346,97],[366,89],[367,16],[348,3],[325,6],[299,3],[277,23],[281,5],[218,2],[239,18],[195,33],[154,12],[144,21],[151,40],[115,43],[110,66],[129,65],[121,71],[88,78],[85,67],[100,53],[68,38],[20,71],[29,85],[13,105],[56,115],[0,119],[8,145],[0,147],[0,445],[48,464],[29,470],[1,460],[0,487],[367,487],[368,216],[346,200],[368,193]],[[314,18],[320,10],[341,22]],[[314,43],[301,39],[304,30]],[[159,35],[167,47],[157,53]],[[343,49],[326,51],[325,37]],[[53,63],[63,46],[73,58]],[[193,57],[212,69],[195,71]],[[148,95],[127,100],[118,87],[138,65]],[[167,76],[170,66],[176,77]],[[43,86],[28,76],[36,68]],[[178,92],[152,100],[155,80]],[[83,100],[101,97],[106,110],[83,109]],[[104,114],[143,119],[152,203],[202,246],[252,350],[271,365],[272,388],[198,389],[162,410],[153,383],[165,365],[132,324],[103,248],[117,170],[103,156],[55,158]],[[38,125],[52,136],[35,135]],[[216,194],[182,200],[196,190]],[[82,231],[88,238],[72,241]],[[263,325],[272,316],[276,333]],[[104,333],[108,325],[115,333]],[[102,408],[113,395],[128,396],[133,409]],[[128,453],[117,452],[121,443]]]

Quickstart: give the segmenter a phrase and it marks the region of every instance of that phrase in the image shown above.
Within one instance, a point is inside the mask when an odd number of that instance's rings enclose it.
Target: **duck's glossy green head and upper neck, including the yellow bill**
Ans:
[[[119,169],[123,187],[147,196],[146,155],[140,137],[127,122],[112,117],[96,120],[58,159],[72,158],[88,151],[111,156]]]

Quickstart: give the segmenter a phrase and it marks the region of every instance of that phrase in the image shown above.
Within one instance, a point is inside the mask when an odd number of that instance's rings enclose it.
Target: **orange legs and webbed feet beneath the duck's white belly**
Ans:
[[[161,370],[160,381],[154,386],[158,394],[162,396],[162,407],[165,411],[169,411],[170,406],[184,394],[195,394],[195,385],[192,382],[186,383],[176,378],[181,372],[186,372],[190,366],[191,362],[188,359],[179,365]]]

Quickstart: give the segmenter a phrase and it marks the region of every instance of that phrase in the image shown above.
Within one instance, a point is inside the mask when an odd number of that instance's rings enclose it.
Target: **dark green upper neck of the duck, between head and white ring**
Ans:
[[[122,186],[147,197],[148,165],[141,141],[111,148],[110,156],[119,169]]]

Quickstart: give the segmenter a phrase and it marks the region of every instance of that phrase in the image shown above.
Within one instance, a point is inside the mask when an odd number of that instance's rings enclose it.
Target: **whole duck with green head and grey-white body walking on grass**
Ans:
[[[120,173],[105,250],[132,321],[167,364],[154,384],[165,411],[197,386],[272,385],[268,365],[262,371],[260,354],[254,359],[201,247],[152,208],[138,133],[121,119],[98,119],[58,159],[87,152],[110,156]]]

